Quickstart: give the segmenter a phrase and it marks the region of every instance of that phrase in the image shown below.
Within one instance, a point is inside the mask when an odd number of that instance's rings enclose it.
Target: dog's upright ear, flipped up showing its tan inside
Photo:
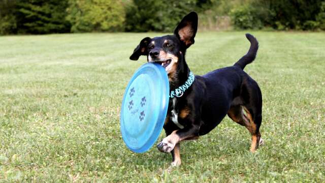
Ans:
[[[182,21],[177,25],[174,35],[181,40],[186,48],[194,44],[194,37],[198,30],[198,14],[190,12]]]

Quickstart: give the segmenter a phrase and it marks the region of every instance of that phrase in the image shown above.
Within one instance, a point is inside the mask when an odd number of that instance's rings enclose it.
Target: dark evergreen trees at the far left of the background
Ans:
[[[1,34],[47,34],[70,31],[68,2],[56,0],[1,0]]]

